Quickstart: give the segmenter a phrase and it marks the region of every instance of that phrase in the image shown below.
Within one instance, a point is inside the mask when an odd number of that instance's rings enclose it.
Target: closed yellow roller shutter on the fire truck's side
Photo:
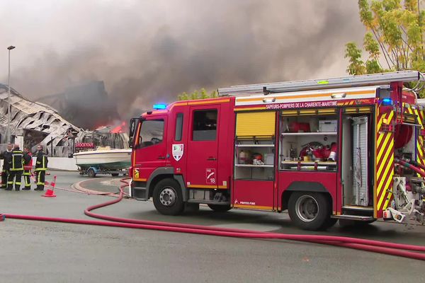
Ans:
[[[276,112],[238,113],[236,117],[237,137],[274,136]]]

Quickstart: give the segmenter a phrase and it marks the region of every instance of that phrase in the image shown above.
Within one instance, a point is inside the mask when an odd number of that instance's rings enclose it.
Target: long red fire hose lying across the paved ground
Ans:
[[[356,250],[367,250],[375,253],[384,253],[387,255],[397,255],[404,258],[413,258],[416,260],[425,260],[425,246],[405,245],[399,243],[388,243],[383,241],[372,241],[361,238],[348,238],[342,236],[320,236],[320,235],[294,235],[282,233],[267,233],[259,231],[249,231],[242,229],[223,229],[212,228],[208,226],[190,225],[190,224],[173,224],[161,221],[145,221],[137,219],[124,219],[113,216],[106,216],[101,214],[94,214],[91,210],[100,207],[106,207],[111,204],[120,202],[123,199],[123,187],[128,183],[125,179],[122,180],[125,185],[120,187],[120,195],[116,200],[111,200],[103,204],[96,204],[88,207],[84,213],[91,217],[104,219],[108,221],[98,220],[85,220],[85,219],[66,219],[57,217],[45,216],[30,216],[30,215],[17,215],[17,214],[0,214],[0,219],[4,217],[11,219],[26,219],[35,221],[54,221],[72,224],[87,224],[98,226],[113,226],[132,229],[151,229],[157,231],[171,231],[180,233],[197,233],[211,236],[227,236],[235,238],[263,238],[263,239],[281,239],[290,241],[305,241],[310,243],[327,244],[331,246],[341,246],[344,248],[354,248]],[[416,251],[416,252],[414,252]]]

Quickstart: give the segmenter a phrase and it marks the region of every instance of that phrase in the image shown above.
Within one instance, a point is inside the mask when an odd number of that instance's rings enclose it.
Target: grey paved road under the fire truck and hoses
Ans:
[[[57,186],[88,180],[55,172]],[[52,176],[51,175],[51,176]],[[96,178],[89,188],[114,192],[118,180]],[[89,219],[86,207],[111,197],[56,190],[0,191],[0,212]],[[201,207],[182,216],[158,214],[152,202],[123,200],[98,213],[135,219],[305,233],[287,214]],[[326,235],[424,244],[425,227],[378,222],[363,229],[338,225]],[[0,282],[425,282],[424,262],[359,250],[291,241],[200,236],[186,233],[6,219],[0,222]]]

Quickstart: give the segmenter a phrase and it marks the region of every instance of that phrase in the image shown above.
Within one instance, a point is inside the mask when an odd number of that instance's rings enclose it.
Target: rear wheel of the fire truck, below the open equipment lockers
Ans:
[[[326,229],[330,221],[330,204],[318,192],[293,192],[288,201],[288,214],[293,223],[304,230]],[[333,223],[334,224],[334,223]]]

